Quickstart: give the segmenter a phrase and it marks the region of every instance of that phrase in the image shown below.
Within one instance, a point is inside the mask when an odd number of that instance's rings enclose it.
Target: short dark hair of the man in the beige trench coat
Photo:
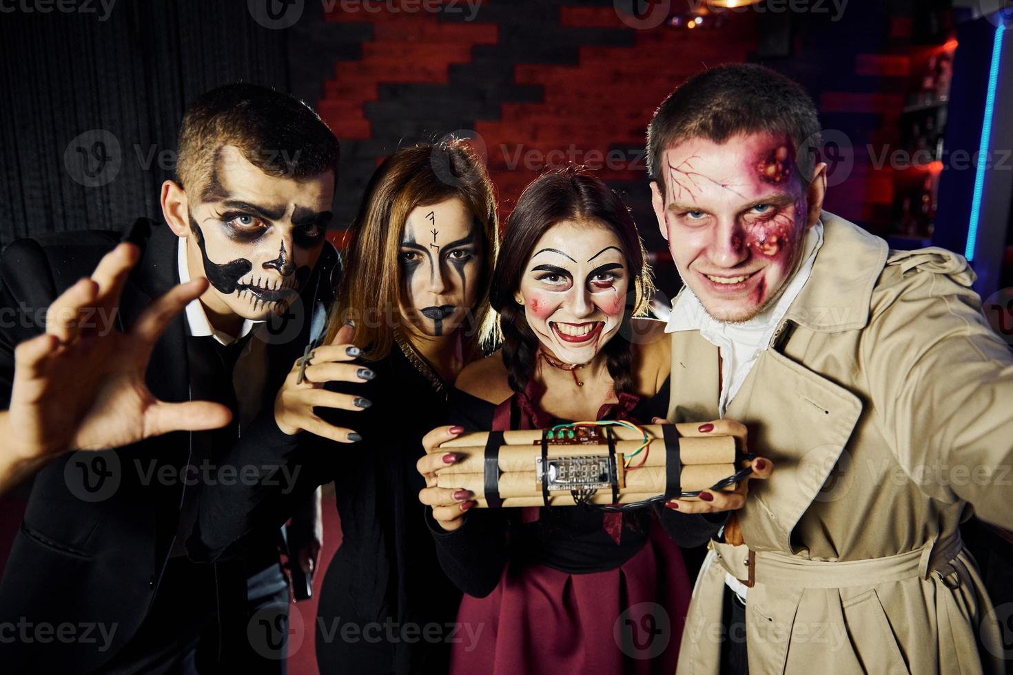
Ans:
[[[724,143],[737,134],[788,135],[799,176],[808,180],[820,147],[812,99],[794,80],[763,66],[712,68],[669,94],[647,128],[647,170],[665,194],[665,151],[693,138]]]

